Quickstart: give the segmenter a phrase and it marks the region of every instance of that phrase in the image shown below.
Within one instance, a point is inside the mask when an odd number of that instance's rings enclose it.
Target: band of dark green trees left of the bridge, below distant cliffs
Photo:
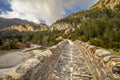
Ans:
[[[43,46],[52,46],[59,42],[57,37],[63,31],[38,31],[38,32],[19,32],[19,31],[0,31],[0,49],[23,49],[30,47],[31,43]]]

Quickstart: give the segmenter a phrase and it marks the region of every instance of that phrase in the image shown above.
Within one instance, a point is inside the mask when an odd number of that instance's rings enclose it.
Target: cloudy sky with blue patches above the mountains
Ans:
[[[98,0],[0,0],[0,17],[51,25],[71,13],[89,9]]]

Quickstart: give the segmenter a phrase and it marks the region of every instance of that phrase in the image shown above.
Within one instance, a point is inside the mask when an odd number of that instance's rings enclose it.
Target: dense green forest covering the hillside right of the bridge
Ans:
[[[89,41],[91,44],[104,48],[120,48],[120,5],[116,9],[92,9],[74,13],[65,19],[59,20],[59,23],[71,23],[75,31],[64,35],[65,38],[82,41]],[[79,19],[79,21],[77,21]],[[72,25],[72,24],[71,24]]]

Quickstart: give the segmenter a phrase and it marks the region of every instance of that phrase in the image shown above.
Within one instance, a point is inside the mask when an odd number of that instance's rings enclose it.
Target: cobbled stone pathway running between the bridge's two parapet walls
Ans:
[[[50,80],[91,80],[82,54],[73,45],[67,45],[59,57]]]

